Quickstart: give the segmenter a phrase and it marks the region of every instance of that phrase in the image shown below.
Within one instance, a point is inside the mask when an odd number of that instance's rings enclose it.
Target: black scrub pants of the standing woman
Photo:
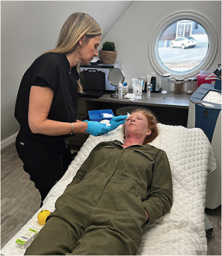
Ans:
[[[40,191],[41,203],[48,192],[61,179],[72,161],[66,140],[45,142],[34,140],[24,132],[16,138],[18,156],[24,163],[24,171],[29,173],[36,189]]]

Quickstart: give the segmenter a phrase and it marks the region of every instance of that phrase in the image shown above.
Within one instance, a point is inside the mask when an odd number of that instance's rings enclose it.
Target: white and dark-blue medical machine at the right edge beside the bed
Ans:
[[[217,168],[207,177],[206,207],[221,204],[221,67],[214,70],[215,84],[202,84],[189,99],[188,128],[199,127],[211,142]],[[210,76],[209,76],[210,77]]]

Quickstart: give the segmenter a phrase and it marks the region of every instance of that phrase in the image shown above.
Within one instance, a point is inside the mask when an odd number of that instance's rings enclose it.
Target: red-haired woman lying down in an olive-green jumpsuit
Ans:
[[[147,144],[158,136],[151,113],[131,113],[124,136],[94,147],[26,255],[137,253],[144,224],[170,211],[172,179],[165,152]]]

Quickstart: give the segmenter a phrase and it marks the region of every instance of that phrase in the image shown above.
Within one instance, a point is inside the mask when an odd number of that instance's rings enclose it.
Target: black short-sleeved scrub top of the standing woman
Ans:
[[[76,122],[78,110],[76,67],[70,74],[70,63],[65,54],[47,53],[38,57],[27,69],[18,89],[15,104],[15,118],[20,130],[36,140],[57,141],[68,137],[34,134],[28,124],[29,93],[31,86],[49,86],[54,91],[54,99],[48,113],[48,119],[59,122]],[[71,125],[70,125],[71,130]]]

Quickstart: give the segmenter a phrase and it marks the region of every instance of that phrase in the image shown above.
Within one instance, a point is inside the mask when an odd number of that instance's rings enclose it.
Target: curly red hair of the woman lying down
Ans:
[[[158,127],[157,127],[158,120],[156,119],[156,116],[154,116],[152,111],[150,111],[149,109],[138,108],[131,111],[130,115],[136,112],[142,113],[147,118],[148,127],[149,129],[151,129],[152,132],[150,135],[147,135],[145,137],[144,145],[147,143],[151,143],[151,141],[153,141],[158,136]]]

